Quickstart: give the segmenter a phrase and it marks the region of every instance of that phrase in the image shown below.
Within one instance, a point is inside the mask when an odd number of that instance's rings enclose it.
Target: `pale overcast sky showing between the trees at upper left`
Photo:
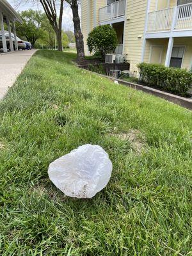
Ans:
[[[19,0],[19,1],[8,0],[8,3],[10,3],[13,6],[13,8],[15,8],[15,10],[17,11],[24,11],[28,9],[42,10],[42,6],[40,4],[32,4],[32,3],[26,4],[26,0]],[[17,4],[17,3],[20,3],[20,4]],[[65,5],[64,12],[63,12],[63,29],[74,31],[74,25],[72,21],[72,12],[70,7],[67,4]]]

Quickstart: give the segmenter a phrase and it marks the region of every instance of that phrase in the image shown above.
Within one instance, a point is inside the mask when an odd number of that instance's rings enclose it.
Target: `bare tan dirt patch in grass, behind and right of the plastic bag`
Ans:
[[[141,151],[145,147],[145,136],[138,129],[130,129],[127,133],[113,134],[113,136],[121,140],[128,140],[133,150],[138,154],[141,154]]]

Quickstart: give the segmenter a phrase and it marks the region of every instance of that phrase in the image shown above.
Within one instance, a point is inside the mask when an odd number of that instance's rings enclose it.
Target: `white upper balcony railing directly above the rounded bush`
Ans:
[[[125,0],[120,0],[99,9],[99,22],[125,15]]]

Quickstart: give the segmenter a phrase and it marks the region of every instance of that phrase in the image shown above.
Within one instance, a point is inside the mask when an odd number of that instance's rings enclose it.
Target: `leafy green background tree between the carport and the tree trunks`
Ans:
[[[36,40],[44,36],[43,23],[47,19],[45,13],[35,10],[23,11],[20,14],[23,23],[17,22],[17,35],[26,38],[34,47]]]

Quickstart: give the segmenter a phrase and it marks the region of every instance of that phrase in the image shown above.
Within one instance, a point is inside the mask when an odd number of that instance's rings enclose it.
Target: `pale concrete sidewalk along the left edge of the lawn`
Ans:
[[[15,51],[0,54],[0,99],[17,79],[17,76],[22,72],[28,60],[36,50],[30,51]]]

